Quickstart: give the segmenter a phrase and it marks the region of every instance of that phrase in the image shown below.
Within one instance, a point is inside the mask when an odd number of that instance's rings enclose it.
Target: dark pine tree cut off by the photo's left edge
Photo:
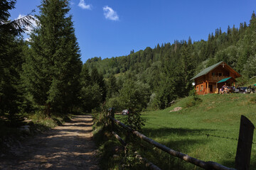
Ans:
[[[30,16],[10,21],[9,10],[15,8],[16,1],[0,1],[0,115],[7,114],[12,121],[19,112],[21,95],[21,64],[23,62],[23,40],[18,35],[29,25]]]

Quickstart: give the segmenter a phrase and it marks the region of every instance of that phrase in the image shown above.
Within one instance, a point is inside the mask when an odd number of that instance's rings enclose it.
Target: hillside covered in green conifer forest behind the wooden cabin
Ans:
[[[94,57],[84,64],[87,69],[97,68],[107,79],[109,94],[113,84],[116,93],[108,95],[107,100],[119,96],[118,91],[127,81],[135,81],[149,87],[147,106],[150,108],[166,108],[176,98],[188,96],[191,78],[202,69],[220,61],[224,61],[242,74],[246,81],[256,75],[256,16],[252,13],[250,23],[240,23],[239,28],[233,26],[208,35],[208,40],[192,41],[176,40],[174,43],[156,45],[154,49],[134,52],[122,57],[102,60]],[[114,77],[113,77],[114,75]],[[114,82],[113,82],[114,81]],[[117,100],[116,100],[117,101]],[[146,101],[145,101],[146,102]],[[145,105],[144,105],[145,106]],[[146,106],[145,106],[146,107]],[[144,107],[144,108],[145,108]]]

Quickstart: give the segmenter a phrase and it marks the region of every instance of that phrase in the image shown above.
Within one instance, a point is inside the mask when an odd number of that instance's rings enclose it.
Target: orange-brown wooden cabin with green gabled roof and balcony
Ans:
[[[235,79],[241,77],[238,72],[225,62],[218,62],[202,72],[198,73],[191,80],[195,81],[197,94],[218,94],[219,89],[226,86],[235,86]]]

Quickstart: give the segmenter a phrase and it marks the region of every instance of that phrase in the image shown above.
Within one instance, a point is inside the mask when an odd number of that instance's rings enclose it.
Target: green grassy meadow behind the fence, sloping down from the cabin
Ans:
[[[142,113],[146,119],[142,133],[191,157],[234,167],[240,115],[256,125],[256,94],[208,94],[200,98],[203,101],[196,106],[186,108],[193,101],[188,97],[163,111]],[[176,107],[183,109],[170,112]],[[253,142],[256,143],[255,135]],[[161,169],[199,169],[159,149],[152,149],[141,152]],[[256,145],[252,145],[251,169],[256,169]]]

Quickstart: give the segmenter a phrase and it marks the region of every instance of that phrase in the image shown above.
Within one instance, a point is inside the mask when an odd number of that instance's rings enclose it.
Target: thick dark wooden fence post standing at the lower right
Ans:
[[[244,115],[241,115],[238,148],[235,155],[235,169],[249,170],[252,151],[252,137],[255,126]]]

